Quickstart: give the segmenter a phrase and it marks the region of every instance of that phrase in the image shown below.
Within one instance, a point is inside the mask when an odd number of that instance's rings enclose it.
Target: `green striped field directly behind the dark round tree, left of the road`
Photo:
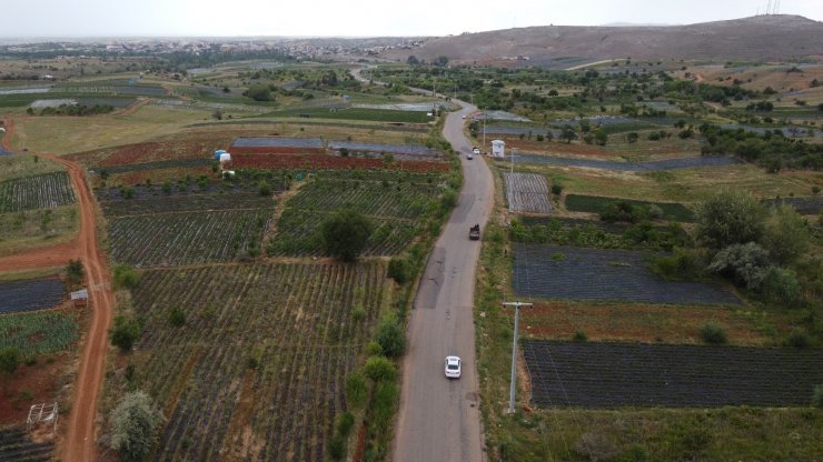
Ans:
[[[393,255],[422,231],[423,221],[436,207],[442,177],[381,172],[348,177],[320,172],[287,202],[268,244],[269,255],[323,254],[320,224],[333,212],[350,208],[367,215],[374,232],[364,254]]]

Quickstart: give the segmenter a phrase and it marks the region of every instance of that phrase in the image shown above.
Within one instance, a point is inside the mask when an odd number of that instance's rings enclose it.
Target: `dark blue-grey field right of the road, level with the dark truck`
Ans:
[[[516,244],[513,287],[518,295],[545,299],[740,303],[713,284],[663,281],[648,271],[646,258],[625,250]]]

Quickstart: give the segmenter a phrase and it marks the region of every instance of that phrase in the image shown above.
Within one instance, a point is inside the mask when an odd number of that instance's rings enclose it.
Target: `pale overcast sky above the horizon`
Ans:
[[[777,1],[777,0],[771,0]],[[688,24],[769,0],[0,0],[0,37],[446,36],[527,26]],[[823,20],[823,0],[780,0]]]

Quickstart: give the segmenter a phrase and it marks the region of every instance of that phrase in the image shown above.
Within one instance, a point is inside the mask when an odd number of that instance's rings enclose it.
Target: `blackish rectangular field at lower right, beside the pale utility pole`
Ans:
[[[544,408],[809,405],[823,352],[526,340],[532,400]]]

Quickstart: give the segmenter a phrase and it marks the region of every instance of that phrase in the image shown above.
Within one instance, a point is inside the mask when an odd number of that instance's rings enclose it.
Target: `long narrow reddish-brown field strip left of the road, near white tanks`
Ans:
[[[425,160],[395,160],[343,158],[325,154],[232,154],[236,168],[272,170],[404,170],[409,172],[447,172],[448,164]]]

